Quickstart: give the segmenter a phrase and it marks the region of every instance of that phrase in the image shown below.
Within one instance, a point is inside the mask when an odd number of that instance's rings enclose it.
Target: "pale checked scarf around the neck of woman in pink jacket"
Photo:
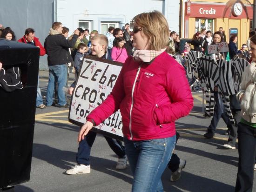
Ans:
[[[136,50],[133,53],[133,59],[135,61],[143,61],[143,62],[150,62],[151,60],[155,59],[158,55],[163,53],[166,49],[161,49],[160,51],[155,50]]]

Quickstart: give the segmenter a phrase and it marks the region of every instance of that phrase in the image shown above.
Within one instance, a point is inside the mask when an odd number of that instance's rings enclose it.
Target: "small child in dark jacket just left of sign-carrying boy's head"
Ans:
[[[77,46],[77,52],[74,56],[74,69],[75,69],[75,79],[79,73],[81,61],[83,60],[84,55],[88,52],[88,46],[84,43],[80,43]]]

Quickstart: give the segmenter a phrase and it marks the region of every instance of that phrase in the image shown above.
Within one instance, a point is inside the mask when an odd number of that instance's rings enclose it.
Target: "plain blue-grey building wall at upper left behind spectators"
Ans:
[[[1,0],[0,24],[10,26],[20,39],[31,27],[43,44],[54,21],[54,0]],[[47,70],[47,56],[40,57],[40,69]]]

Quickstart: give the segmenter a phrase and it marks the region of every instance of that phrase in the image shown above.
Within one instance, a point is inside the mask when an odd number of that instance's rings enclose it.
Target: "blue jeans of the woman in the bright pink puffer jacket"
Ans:
[[[176,135],[143,141],[124,138],[134,176],[132,192],[163,192],[161,176],[171,159],[175,143]]]

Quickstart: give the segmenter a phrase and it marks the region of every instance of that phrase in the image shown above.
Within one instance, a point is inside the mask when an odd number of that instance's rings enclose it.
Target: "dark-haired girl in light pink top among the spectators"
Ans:
[[[124,63],[125,60],[128,58],[127,51],[123,47],[125,44],[125,40],[122,37],[117,37],[115,40],[115,44],[112,48],[111,57],[112,60],[119,61]]]

